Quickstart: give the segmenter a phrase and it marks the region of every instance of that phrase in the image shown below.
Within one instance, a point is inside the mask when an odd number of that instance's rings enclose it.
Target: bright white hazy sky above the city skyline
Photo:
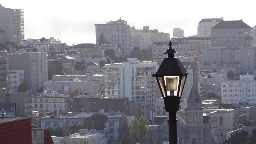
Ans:
[[[203,18],[240,20],[256,25],[254,0],[1,0],[6,8],[24,9],[25,39],[59,38],[68,45],[95,43],[94,24],[120,17],[130,27],[149,26],[170,33],[196,35]]]

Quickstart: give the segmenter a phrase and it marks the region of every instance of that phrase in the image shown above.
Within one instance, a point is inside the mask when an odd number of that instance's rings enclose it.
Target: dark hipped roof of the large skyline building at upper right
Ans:
[[[252,27],[244,23],[243,20],[222,20],[211,29],[218,29],[218,28],[252,28]]]

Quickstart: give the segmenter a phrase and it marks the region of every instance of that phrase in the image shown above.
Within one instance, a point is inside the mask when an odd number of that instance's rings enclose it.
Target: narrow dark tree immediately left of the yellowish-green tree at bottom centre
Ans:
[[[118,142],[122,144],[130,144],[131,140],[127,133],[130,132],[130,128],[128,127],[127,123],[123,125],[119,125],[117,132],[119,133]]]

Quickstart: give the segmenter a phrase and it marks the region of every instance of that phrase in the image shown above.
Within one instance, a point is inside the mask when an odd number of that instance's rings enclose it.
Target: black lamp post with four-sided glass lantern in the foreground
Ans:
[[[165,111],[169,112],[169,143],[177,144],[176,111],[179,111],[181,94],[189,72],[179,58],[174,58],[174,53],[177,52],[172,49],[172,42],[169,42],[169,46],[165,52],[168,58],[164,58],[156,74],[152,76],[156,77],[164,99]]]

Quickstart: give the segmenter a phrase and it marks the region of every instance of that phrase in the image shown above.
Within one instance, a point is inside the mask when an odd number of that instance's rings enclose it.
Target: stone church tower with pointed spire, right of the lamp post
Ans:
[[[188,97],[185,116],[187,121],[186,142],[190,144],[203,144],[203,107],[195,83],[193,83]]]

